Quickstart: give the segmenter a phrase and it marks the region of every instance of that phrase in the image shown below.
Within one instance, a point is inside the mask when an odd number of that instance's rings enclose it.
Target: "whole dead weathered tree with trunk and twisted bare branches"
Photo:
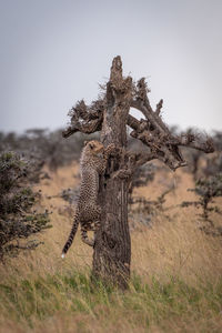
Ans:
[[[128,224],[128,189],[138,167],[158,159],[171,170],[185,165],[180,147],[185,145],[210,153],[213,151],[209,138],[191,133],[172,135],[161,119],[163,101],[153,110],[144,78],[137,83],[122,74],[122,61],[118,56],[112,61],[110,79],[103,97],[87,105],[79,101],[71,109],[71,122],[63,137],[75,132],[100,131],[104,147],[113,143],[107,171],[100,180],[99,204],[102,209],[101,228],[95,235],[92,275],[103,281],[128,285],[130,278],[131,241]],[[144,119],[132,117],[130,108],[138,109]],[[127,125],[130,135],[140,140],[147,152],[130,152],[127,142]],[[149,263],[148,263],[149,264]]]

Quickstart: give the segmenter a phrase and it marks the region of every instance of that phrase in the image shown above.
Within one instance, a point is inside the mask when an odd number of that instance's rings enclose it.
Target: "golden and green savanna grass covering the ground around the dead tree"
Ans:
[[[91,284],[92,250],[79,234],[60,258],[71,212],[54,195],[75,186],[77,173],[77,164],[62,168],[38,188],[53,228],[41,235],[43,245],[0,266],[0,332],[222,332],[222,241],[200,231],[194,208],[175,206],[195,199],[186,191],[192,178],[161,171],[137,190],[155,199],[174,184],[164,204],[169,218],[160,212],[152,228],[131,232],[132,279],[123,293]]]

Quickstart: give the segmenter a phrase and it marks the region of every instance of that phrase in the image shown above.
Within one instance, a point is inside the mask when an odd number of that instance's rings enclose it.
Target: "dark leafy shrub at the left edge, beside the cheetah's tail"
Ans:
[[[14,152],[0,154],[0,260],[19,250],[34,249],[38,241],[27,241],[49,225],[48,212],[38,213],[33,205],[40,198],[28,185],[28,162]]]

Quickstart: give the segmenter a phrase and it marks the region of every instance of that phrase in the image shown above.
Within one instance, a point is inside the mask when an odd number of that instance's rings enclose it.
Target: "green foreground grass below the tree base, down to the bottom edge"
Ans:
[[[75,272],[11,279],[0,284],[0,295],[2,327],[13,322],[17,329],[59,332],[57,325],[49,324],[53,317],[63,326],[67,321],[73,323],[69,332],[117,332],[119,326],[123,332],[145,332],[154,325],[164,331],[173,319],[178,331],[189,331],[186,322],[199,323],[200,332],[216,332],[222,324],[222,279],[215,284],[200,281],[193,287],[174,276],[163,283],[154,276],[144,282],[133,275],[123,293],[100,282],[92,284],[88,273]]]

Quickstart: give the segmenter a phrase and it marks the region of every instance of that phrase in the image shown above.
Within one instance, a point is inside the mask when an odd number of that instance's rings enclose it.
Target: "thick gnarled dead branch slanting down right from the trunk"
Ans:
[[[191,133],[173,137],[160,117],[163,100],[157,104],[154,112],[150,105],[148,92],[145,80],[142,78],[134,87],[131,107],[141,111],[145,120],[139,121],[129,114],[128,125],[133,129],[130,133],[131,137],[141,140],[157,159],[163,161],[172,170],[186,164],[179,150],[180,145],[202,150],[206,153],[213,152],[213,143],[209,138],[204,140]]]

